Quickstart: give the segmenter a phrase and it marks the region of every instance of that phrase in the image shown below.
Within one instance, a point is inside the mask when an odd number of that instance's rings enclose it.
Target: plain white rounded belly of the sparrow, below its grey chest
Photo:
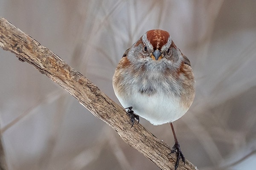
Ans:
[[[133,107],[134,113],[147,119],[153,125],[174,122],[183,116],[188,108],[180,105],[180,97],[154,94],[152,96],[136,93],[120,97],[116,94],[124,108]]]

